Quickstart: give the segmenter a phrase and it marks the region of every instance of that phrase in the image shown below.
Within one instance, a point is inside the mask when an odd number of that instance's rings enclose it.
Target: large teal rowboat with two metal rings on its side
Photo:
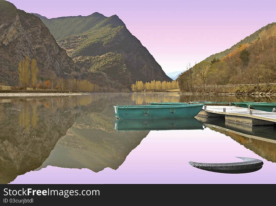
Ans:
[[[118,119],[192,118],[203,104],[113,106]]]

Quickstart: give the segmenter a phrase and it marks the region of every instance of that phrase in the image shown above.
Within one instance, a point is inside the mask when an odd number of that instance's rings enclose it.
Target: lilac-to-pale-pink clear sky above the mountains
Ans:
[[[275,0],[10,0],[47,18],[117,14],[168,73],[184,70],[275,22]]]

